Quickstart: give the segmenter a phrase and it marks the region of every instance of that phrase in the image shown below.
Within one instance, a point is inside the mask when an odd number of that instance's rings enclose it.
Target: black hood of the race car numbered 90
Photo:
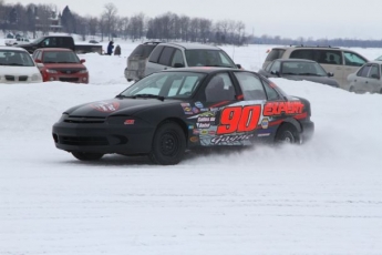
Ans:
[[[106,118],[110,115],[134,115],[140,111],[148,109],[161,109],[169,105],[179,105],[179,100],[164,101],[158,99],[110,99],[81,104],[69,109],[65,113],[71,116]]]

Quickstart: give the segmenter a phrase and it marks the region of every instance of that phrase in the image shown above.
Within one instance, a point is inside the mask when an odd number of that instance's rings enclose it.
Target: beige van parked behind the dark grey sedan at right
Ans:
[[[276,59],[308,59],[319,62],[327,72],[334,74],[333,78],[342,89],[348,84],[348,75],[369,62],[363,55],[342,48],[277,47],[268,53],[262,69]]]

